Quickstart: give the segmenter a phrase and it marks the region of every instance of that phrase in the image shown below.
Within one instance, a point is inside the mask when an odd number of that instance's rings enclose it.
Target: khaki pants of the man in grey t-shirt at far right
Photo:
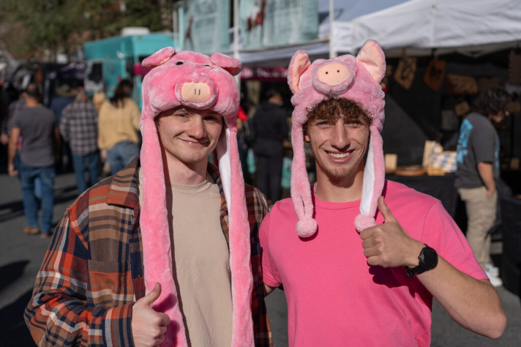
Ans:
[[[498,191],[487,197],[487,188],[458,188],[467,210],[467,241],[479,265],[485,269],[490,259],[490,228],[494,224]]]

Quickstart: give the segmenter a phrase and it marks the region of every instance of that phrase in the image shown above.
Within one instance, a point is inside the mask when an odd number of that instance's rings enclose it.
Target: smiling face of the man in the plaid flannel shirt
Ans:
[[[210,110],[176,107],[156,118],[159,140],[170,163],[187,166],[208,160],[223,127],[222,116]]]

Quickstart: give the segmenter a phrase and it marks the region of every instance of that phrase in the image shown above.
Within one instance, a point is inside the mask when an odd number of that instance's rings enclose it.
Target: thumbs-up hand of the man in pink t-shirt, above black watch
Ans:
[[[369,265],[398,267],[418,265],[418,255],[425,245],[409,236],[396,220],[383,197],[378,198],[383,224],[362,230],[362,247]]]

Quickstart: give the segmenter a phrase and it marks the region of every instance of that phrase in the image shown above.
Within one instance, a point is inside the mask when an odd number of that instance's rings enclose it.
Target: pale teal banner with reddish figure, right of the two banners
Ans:
[[[240,0],[243,48],[297,44],[318,37],[317,0]]]

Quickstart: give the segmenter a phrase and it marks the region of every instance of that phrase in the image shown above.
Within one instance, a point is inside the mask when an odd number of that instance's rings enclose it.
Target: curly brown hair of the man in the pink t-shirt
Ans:
[[[358,102],[345,98],[331,98],[324,99],[313,109],[307,110],[307,121],[304,124],[304,130],[307,131],[309,124],[316,119],[336,122],[340,117],[343,117],[345,122],[357,120],[363,125],[371,123],[368,112]]]

